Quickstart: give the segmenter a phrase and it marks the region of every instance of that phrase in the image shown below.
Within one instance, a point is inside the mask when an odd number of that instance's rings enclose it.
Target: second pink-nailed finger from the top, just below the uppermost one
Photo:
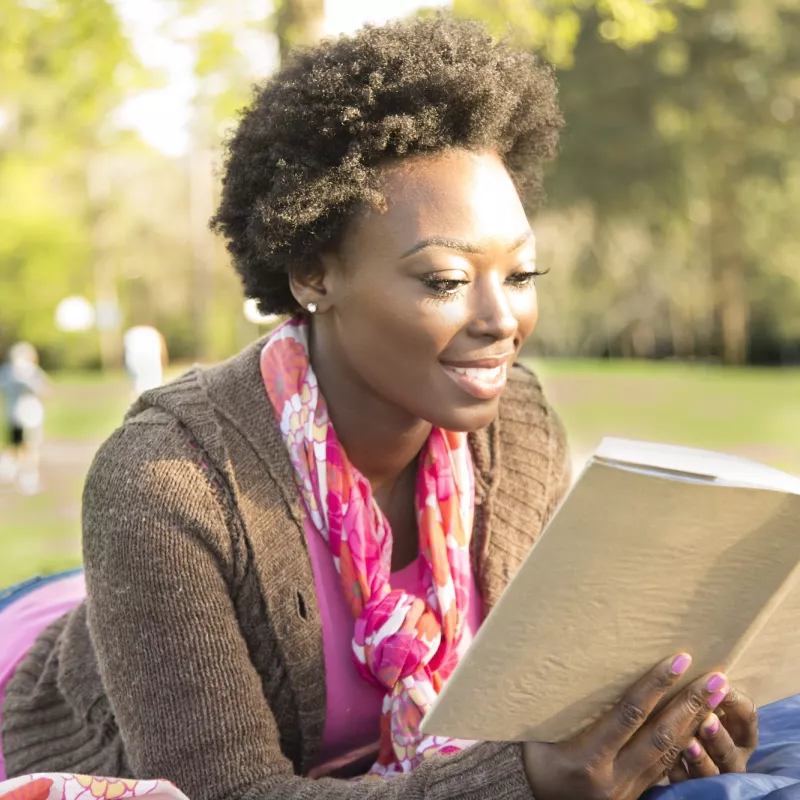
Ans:
[[[728,680],[721,672],[689,684],[663,711],[648,720],[622,751],[618,759],[622,774],[629,779],[641,776],[657,780],[689,746],[700,723],[727,692]]]

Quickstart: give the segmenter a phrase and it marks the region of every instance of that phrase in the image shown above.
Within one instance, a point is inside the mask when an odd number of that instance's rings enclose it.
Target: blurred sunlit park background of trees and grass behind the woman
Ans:
[[[268,329],[207,229],[252,83],[296,43],[436,5],[0,0],[0,358],[29,341],[51,379],[41,485],[0,484],[0,587],[79,562],[126,330],[163,333],[169,376]],[[576,466],[618,435],[800,474],[800,0],[453,11],[558,68],[526,357]]]

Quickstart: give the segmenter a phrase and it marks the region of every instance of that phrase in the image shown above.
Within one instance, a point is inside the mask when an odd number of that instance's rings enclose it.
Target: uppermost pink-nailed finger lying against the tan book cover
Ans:
[[[641,728],[664,695],[689,669],[692,658],[679,653],[662,661],[635,683],[582,737],[587,752],[616,755]]]

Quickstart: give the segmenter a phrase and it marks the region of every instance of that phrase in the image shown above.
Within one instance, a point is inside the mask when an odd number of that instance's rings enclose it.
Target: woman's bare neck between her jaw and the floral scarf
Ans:
[[[320,337],[310,336],[311,364],[336,435],[375,494],[391,492],[431,431],[429,422],[376,396]]]

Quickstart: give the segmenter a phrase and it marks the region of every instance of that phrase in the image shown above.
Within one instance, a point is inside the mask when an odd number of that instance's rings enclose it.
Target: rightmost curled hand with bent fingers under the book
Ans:
[[[717,712],[703,721],[681,761],[670,770],[672,783],[744,772],[758,746],[758,712],[746,695],[731,688]]]

